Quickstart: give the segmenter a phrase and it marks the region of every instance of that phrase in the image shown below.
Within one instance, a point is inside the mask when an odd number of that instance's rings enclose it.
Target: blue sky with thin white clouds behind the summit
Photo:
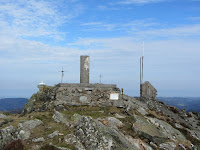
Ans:
[[[144,81],[158,96],[200,97],[200,0],[1,0],[0,97],[30,97],[37,85],[117,84],[139,96]]]

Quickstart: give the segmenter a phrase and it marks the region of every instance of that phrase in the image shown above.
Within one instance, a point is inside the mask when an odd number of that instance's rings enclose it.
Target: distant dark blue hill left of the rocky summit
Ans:
[[[22,109],[27,102],[26,98],[2,98],[0,99],[0,111]]]

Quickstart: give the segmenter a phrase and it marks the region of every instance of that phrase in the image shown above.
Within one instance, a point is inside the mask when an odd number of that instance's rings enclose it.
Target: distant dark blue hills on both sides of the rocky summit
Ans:
[[[200,114],[200,97],[158,97],[158,100],[167,105]],[[0,111],[19,112],[27,101],[27,98],[2,98],[0,99]]]

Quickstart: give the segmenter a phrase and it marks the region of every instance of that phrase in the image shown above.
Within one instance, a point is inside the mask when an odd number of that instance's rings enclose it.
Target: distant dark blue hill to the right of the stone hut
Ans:
[[[200,97],[158,97],[158,100],[179,109],[186,109],[187,112],[195,111],[200,114]]]

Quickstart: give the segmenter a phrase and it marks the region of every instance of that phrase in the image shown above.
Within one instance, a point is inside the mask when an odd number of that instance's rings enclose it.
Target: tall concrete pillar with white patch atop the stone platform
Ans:
[[[80,57],[80,83],[89,83],[90,57]]]

